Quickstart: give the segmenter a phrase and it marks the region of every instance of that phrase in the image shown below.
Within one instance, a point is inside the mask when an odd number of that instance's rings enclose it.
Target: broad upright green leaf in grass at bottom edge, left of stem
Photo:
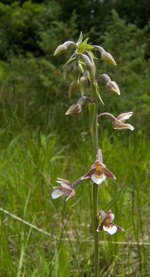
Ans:
[[[58,271],[58,276],[60,277],[70,277],[71,272],[70,272],[70,265],[69,265],[69,258],[67,256],[66,250],[61,244],[59,247],[59,271]]]

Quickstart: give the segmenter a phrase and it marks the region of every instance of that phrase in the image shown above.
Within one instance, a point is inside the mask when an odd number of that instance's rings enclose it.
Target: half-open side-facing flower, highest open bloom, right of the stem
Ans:
[[[131,129],[134,130],[134,127],[131,124],[125,124],[125,119],[128,119],[133,112],[128,112],[124,114],[119,114],[117,118],[113,121],[113,128],[114,129]]]

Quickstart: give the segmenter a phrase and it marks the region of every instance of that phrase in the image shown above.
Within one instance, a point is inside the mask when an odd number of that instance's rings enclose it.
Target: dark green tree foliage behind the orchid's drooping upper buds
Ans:
[[[111,68],[109,72],[106,64],[99,68],[98,74],[107,71],[112,80],[117,80],[120,91],[124,92],[117,102],[118,108],[122,110],[126,101],[126,107],[136,111],[138,122],[146,124],[150,101],[150,20],[146,17],[145,24],[140,23],[143,19],[133,9],[131,14],[123,14],[123,8],[119,11],[121,5],[129,10],[133,4],[135,1],[76,0],[69,4],[67,0],[1,1],[0,89],[4,110],[11,114],[18,107],[16,112],[21,120],[35,122],[40,109],[46,113],[56,102],[63,106],[69,82],[66,78],[64,83],[61,69],[69,53],[57,60],[53,53],[64,41],[77,41],[82,30],[84,38],[90,37],[89,43],[107,49],[117,62],[117,76],[116,70]],[[138,7],[144,9],[140,1],[136,10]],[[148,10],[149,7],[144,10],[145,14]],[[106,93],[103,81],[102,93]],[[134,102],[130,101],[133,98]],[[105,105],[114,112],[113,101],[111,105],[109,101],[107,95]],[[43,120],[39,117],[41,125]]]

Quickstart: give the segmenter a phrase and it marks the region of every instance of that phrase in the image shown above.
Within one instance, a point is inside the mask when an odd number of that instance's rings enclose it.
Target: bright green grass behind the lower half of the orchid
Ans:
[[[35,228],[0,210],[0,276],[92,276],[92,188],[71,208],[89,182],[84,180],[67,202],[51,197],[57,177],[73,183],[94,163],[84,119],[81,123],[71,118],[73,129],[65,133],[63,128],[49,133],[27,126],[14,132],[15,124],[10,120],[1,128],[1,208]],[[125,232],[100,233],[100,276],[149,276],[150,148],[146,135],[106,130],[99,134],[99,145],[103,162],[117,177],[107,178],[108,187],[104,182],[99,186],[99,208],[126,182],[111,208],[114,222]]]

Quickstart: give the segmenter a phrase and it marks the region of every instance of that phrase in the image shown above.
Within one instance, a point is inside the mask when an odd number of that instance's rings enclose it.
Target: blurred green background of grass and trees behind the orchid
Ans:
[[[112,207],[125,232],[100,233],[100,276],[150,276],[149,253],[149,0],[1,1],[0,2],[0,183],[1,209],[47,231],[40,232],[0,211],[0,276],[93,276],[92,189],[73,208],[74,199],[52,200],[57,177],[73,183],[94,163],[88,103],[81,114],[65,116],[81,97],[68,98],[72,76],[62,67],[74,52],[53,56],[59,44],[88,43],[111,53],[117,66],[94,51],[97,78],[108,74],[120,96],[99,83],[98,112],[133,111],[131,130],[114,130],[100,118],[103,162],[117,180],[99,188],[99,208],[126,181]],[[90,98],[90,90],[86,96]],[[120,234],[121,233],[121,234]]]

